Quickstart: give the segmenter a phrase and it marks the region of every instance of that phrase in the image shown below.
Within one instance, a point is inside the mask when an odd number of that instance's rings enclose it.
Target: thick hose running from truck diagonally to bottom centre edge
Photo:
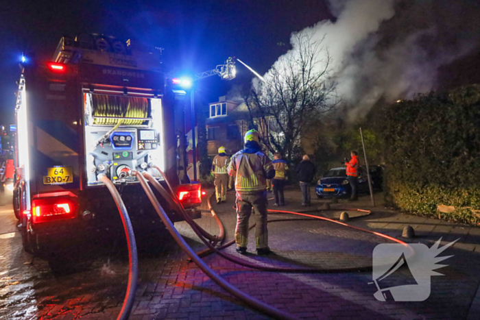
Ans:
[[[184,238],[178,233],[176,228],[173,226],[173,223],[170,221],[169,217],[165,213],[165,210],[163,210],[162,206],[156,199],[154,193],[152,192],[152,189],[147,183],[147,180],[145,180],[145,177],[138,171],[132,171],[132,175],[137,177],[139,180],[141,186],[143,187],[143,190],[145,190],[145,193],[147,194],[147,197],[150,199],[152,202],[152,205],[154,206],[156,212],[158,213],[158,216],[160,219],[162,219],[163,223],[169,230],[171,236],[175,239],[175,241],[180,245],[182,250],[197,264],[197,266],[204,271],[206,275],[208,275],[209,278],[211,278],[216,284],[221,286],[221,288],[224,288],[225,291],[230,293],[231,295],[234,295],[235,297],[241,299],[241,301],[245,302],[245,304],[248,304],[249,306],[252,306],[254,309],[259,310],[265,315],[269,315],[270,317],[274,317],[274,319],[295,319],[293,316],[287,314],[286,312],[282,312],[272,306],[268,306],[267,304],[264,304],[263,302],[255,299],[254,297],[250,297],[249,295],[246,295],[242,291],[239,291],[239,289],[235,288],[235,286],[232,286],[226,280],[223,278],[220,278],[217,273],[213,272],[213,270],[206,265],[205,262],[203,262],[202,259],[200,259],[193,249],[187,245],[187,243],[184,241]],[[208,241],[206,241],[208,243]]]

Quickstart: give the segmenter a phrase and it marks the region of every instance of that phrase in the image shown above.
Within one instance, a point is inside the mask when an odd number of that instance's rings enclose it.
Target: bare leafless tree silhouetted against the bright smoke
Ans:
[[[245,99],[262,143],[289,160],[302,133],[315,130],[315,121],[337,104],[335,82],[328,79],[331,58],[322,42],[293,35],[293,49],[277,60],[265,81],[254,83]]]

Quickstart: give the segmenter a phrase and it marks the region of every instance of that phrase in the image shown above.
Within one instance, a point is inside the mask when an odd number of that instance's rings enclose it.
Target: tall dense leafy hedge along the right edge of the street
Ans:
[[[480,86],[418,95],[385,109],[387,192],[393,205],[463,223],[479,223]],[[455,206],[440,213],[437,206]]]

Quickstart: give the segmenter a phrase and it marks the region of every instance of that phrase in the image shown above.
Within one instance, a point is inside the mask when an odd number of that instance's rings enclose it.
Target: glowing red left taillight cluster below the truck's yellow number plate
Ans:
[[[71,197],[50,197],[32,201],[34,223],[75,218],[77,204]]]

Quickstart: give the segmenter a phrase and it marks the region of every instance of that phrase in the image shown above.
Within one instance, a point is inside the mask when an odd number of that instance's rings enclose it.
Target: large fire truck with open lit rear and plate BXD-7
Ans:
[[[165,184],[162,170],[191,217],[200,217],[200,184],[178,177],[184,149],[175,128],[186,92],[166,77],[160,51],[81,34],[64,36],[49,61],[23,60],[13,203],[26,251],[41,255],[121,227],[100,174],[116,184],[138,234],[161,221],[131,170]]]

